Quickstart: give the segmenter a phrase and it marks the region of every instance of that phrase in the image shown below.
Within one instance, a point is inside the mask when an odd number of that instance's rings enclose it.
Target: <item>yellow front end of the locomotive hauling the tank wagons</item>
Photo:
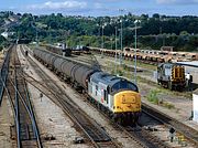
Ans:
[[[141,95],[134,91],[114,94],[113,113],[122,125],[136,124],[141,115]]]

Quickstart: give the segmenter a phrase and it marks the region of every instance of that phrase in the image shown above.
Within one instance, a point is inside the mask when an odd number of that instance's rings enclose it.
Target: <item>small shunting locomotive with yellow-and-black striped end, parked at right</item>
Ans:
[[[173,63],[158,64],[157,83],[169,89],[182,91],[186,85],[185,67]]]

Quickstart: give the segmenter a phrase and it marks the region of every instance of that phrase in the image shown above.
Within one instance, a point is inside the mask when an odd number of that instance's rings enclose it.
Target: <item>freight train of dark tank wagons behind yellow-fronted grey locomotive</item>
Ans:
[[[132,82],[35,49],[34,56],[56,72],[88,99],[122,125],[135,125],[141,115],[141,96]]]

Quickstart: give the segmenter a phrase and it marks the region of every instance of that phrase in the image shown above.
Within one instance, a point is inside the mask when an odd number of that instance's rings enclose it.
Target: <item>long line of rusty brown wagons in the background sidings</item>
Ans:
[[[123,51],[120,50],[107,50],[99,47],[90,47],[90,50],[98,54],[103,54],[107,56],[122,55],[124,60],[134,60],[135,50],[131,47],[125,47]],[[169,51],[155,51],[155,50],[136,50],[136,59],[142,63],[157,65],[164,62],[180,62],[180,61],[197,61],[198,53],[190,52],[169,52]]]

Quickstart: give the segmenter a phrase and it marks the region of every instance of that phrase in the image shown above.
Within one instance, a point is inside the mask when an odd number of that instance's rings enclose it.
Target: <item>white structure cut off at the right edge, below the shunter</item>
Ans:
[[[198,123],[198,89],[193,94],[193,105],[194,105],[194,121]]]

